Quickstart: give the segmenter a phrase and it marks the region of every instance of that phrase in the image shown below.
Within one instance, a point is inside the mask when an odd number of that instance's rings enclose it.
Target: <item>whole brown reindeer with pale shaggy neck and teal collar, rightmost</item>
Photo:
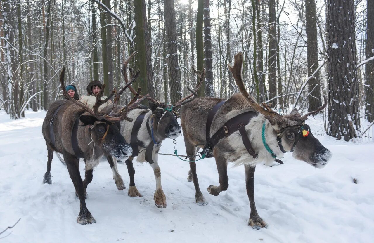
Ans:
[[[248,94],[241,76],[242,63],[243,54],[239,52],[235,55],[234,66],[229,65],[241,93],[234,94],[224,104],[222,99],[197,98],[181,108],[181,123],[187,155],[196,155],[196,144],[208,144],[213,148],[220,185],[210,185],[207,188],[210,194],[218,196],[229,187],[227,162],[244,164],[246,189],[251,206],[248,225],[258,229],[267,227],[267,224],[260,218],[255,206],[253,183],[256,164],[270,165],[275,157],[282,158],[283,153],[293,151],[294,158],[316,168],[323,168],[332,154],[313,136],[310,127],[304,122],[308,116],[324,109],[327,101],[325,97],[325,104],[321,108],[304,116],[301,116],[297,109],[289,115],[281,116],[264,103],[261,107]],[[219,103],[221,107],[217,108]],[[214,118],[212,117],[207,139],[205,126],[201,124],[207,123],[212,109],[218,110]],[[203,204],[204,197],[199,188],[195,162],[190,162],[188,180],[194,182],[196,202]]]

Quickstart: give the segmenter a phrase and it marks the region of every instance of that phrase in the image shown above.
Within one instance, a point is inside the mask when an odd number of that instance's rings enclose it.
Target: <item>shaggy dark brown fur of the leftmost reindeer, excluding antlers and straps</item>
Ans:
[[[56,117],[52,123],[53,133],[55,136],[55,145],[53,145],[49,131],[49,124],[55,110],[60,106],[61,108],[56,114]],[[79,159],[77,159],[75,156],[71,144],[71,132],[77,117],[80,117],[80,126],[78,126],[77,130],[78,146],[84,154],[86,164],[84,181],[82,181],[79,173]],[[82,122],[82,120],[88,122],[87,119],[91,119],[91,122],[93,120],[97,120],[96,118],[90,116],[88,112],[85,112],[85,109],[82,107],[64,99],[54,102],[49,107],[42,128],[42,133],[46,141],[48,152],[47,172],[44,175],[43,183],[52,183],[50,169],[53,151],[62,153],[64,155],[64,160],[66,162],[70,178],[73,181],[76,189],[76,195],[80,200],[80,212],[77,218],[77,222],[79,224],[92,224],[96,222],[86,207],[85,195],[87,186],[92,181],[92,170],[98,165],[99,158],[104,154],[107,157],[117,156],[125,157],[127,159],[132,153],[131,146],[126,144],[125,139],[122,135],[120,135],[119,129],[116,125],[109,126],[107,136],[103,141],[101,141],[104,133],[101,133],[100,129],[104,129],[105,132],[107,130],[107,124],[99,123],[95,126],[95,128],[91,129],[90,124],[84,124]],[[91,141],[93,142],[88,145],[88,143]],[[95,149],[93,150],[94,145]]]

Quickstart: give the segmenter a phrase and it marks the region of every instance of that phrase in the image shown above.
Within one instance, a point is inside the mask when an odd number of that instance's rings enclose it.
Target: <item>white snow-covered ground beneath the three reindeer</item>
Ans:
[[[21,218],[1,234],[0,238],[11,232],[0,242],[373,242],[374,144],[335,141],[323,135],[321,120],[307,123],[333,154],[324,169],[297,161],[290,153],[283,165],[256,169],[257,210],[269,224],[257,231],[247,226],[242,166],[229,165],[229,189],[215,197],[205,190],[218,184],[214,159],[197,162],[200,188],[208,201],[198,206],[193,182],[187,182],[188,162],[168,156],[159,159],[166,209],[154,205],[156,185],[148,164],[134,163],[135,184],[143,197],[133,198],[127,195],[126,165],[118,165],[126,184],[119,191],[109,164],[101,162],[86,200],[96,224],[77,224],[79,200],[56,156],[52,184],[42,184],[45,114],[28,112],[21,120],[0,114],[0,232]],[[183,137],[177,141],[178,153],[184,154]],[[164,141],[161,153],[173,152],[172,141]]]

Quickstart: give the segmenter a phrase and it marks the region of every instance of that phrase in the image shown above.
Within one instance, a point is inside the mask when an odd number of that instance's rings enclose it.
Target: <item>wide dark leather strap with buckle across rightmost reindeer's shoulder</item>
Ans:
[[[249,123],[249,121],[256,117],[258,114],[253,111],[247,111],[245,113],[239,114],[230,120],[228,120],[223,127],[221,127],[211,138],[211,148],[213,149],[214,146],[220,141],[220,139],[229,136],[239,130],[240,135],[242,136],[242,141],[244,147],[248,151],[248,153],[255,159],[257,154],[255,153],[251,142],[249,141],[248,135],[245,130],[245,125]]]

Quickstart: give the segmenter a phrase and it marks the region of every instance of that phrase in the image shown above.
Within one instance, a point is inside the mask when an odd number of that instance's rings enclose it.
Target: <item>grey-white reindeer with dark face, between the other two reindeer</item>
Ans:
[[[124,62],[121,70],[126,83],[128,83],[126,72],[127,64],[128,62]],[[130,72],[132,74],[131,69]],[[134,182],[135,170],[132,161],[134,157],[137,156],[138,162],[148,162],[153,169],[156,178],[156,190],[153,199],[154,203],[159,208],[166,208],[166,197],[162,190],[161,170],[158,164],[159,149],[164,139],[176,139],[181,134],[181,127],[177,122],[179,114],[176,110],[181,105],[187,104],[187,102],[196,98],[196,92],[201,87],[202,81],[205,78],[205,72],[201,74],[198,74],[195,70],[194,72],[199,77],[199,83],[196,85],[195,90],[191,90],[187,87],[191,92],[190,95],[181,99],[174,105],[167,105],[154,98],[147,97],[150,110],[144,111],[141,109],[134,109],[128,114],[128,117],[132,118],[132,121],[121,121],[121,133],[126,141],[131,141],[133,149],[132,156],[126,160],[126,166],[130,176],[128,195],[131,197],[142,196]],[[131,86],[129,86],[129,90],[131,90],[135,96],[139,96]],[[190,99],[192,96],[193,98]],[[139,97],[142,98],[142,96]]]

